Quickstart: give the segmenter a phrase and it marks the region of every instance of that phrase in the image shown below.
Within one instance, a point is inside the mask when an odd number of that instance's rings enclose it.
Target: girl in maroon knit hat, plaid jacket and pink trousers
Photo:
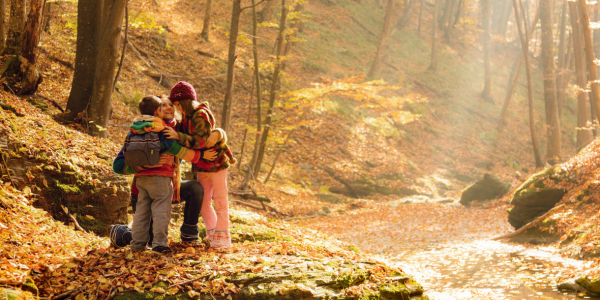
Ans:
[[[175,107],[183,114],[183,128],[174,136],[184,147],[191,149],[214,149],[217,158],[212,161],[201,160],[194,163],[198,171],[198,181],[204,188],[202,218],[206,224],[206,238],[213,248],[231,246],[229,235],[229,203],[227,198],[227,168],[236,162],[227,146],[225,132],[215,128],[213,116],[207,102],[196,101],[196,91],[191,84],[180,81],[171,88],[169,97]],[[174,132],[174,131],[173,131]],[[215,207],[211,206],[211,196]]]

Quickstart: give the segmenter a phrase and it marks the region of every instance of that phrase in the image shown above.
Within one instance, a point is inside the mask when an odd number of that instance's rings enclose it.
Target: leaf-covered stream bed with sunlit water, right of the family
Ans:
[[[490,241],[512,231],[506,206],[500,202],[488,208],[388,202],[300,225],[396,263],[436,300],[576,299],[575,294],[557,291],[556,282],[563,274],[586,267],[551,248]]]

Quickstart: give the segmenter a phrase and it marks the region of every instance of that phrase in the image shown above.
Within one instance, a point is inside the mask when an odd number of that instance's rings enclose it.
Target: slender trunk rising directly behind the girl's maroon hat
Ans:
[[[233,0],[231,11],[231,27],[229,29],[229,54],[227,55],[227,86],[225,88],[225,100],[223,101],[223,115],[221,116],[221,128],[227,131],[231,122],[231,104],[233,103],[233,80],[235,76],[235,49],[237,48],[237,36],[240,28],[240,13],[242,12],[242,0]]]

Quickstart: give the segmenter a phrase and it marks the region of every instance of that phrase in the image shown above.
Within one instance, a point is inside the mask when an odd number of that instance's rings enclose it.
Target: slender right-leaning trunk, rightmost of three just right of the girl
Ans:
[[[392,0],[390,0],[392,1]],[[269,110],[267,111],[267,118],[265,119],[265,128],[260,140],[260,149],[258,150],[258,156],[256,159],[256,167],[254,169],[254,178],[258,177],[260,171],[260,165],[262,164],[265,156],[265,148],[267,146],[267,138],[269,137],[269,129],[271,127],[271,120],[273,117],[273,106],[275,105],[275,98],[279,92],[279,71],[283,67],[281,55],[283,54],[284,40],[285,40],[285,21],[287,19],[287,8],[285,7],[285,0],[281,0],[281,19],[279,22],[279,35],[277,37],[277,52],[275,56],[275,69],[273,70],[273,80],[271,82],[271,91],[269,93]]]

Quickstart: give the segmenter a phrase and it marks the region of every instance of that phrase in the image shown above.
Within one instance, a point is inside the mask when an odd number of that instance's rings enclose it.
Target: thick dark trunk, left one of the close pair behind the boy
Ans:
[[[77,2],[77,44],[75,72],[67,102],[70,119],[85,112],[92,98],[96,56],[100,46],[99,32],[102,24],[104,0],[79,0]]]

